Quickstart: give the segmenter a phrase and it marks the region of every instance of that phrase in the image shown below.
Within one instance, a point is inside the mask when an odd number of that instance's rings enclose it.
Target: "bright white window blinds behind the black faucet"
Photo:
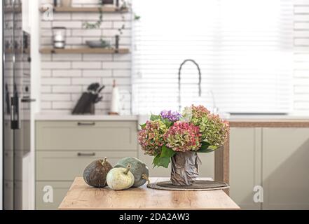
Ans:
[[[233,113],[291,109],[292,0],[134,0],[133,112],[204,104]],[[214,95],[214,101],[212,94]]]

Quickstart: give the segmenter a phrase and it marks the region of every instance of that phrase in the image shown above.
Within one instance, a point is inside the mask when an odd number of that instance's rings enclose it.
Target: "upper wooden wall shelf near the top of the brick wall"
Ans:
[[[103,13],[127,13],[128,8],[117,8],[113,6],[103,7],[55,7],[55,13],[99,13],[101,8]],[[48,8],[41,7],[41,12],[45,12]]]

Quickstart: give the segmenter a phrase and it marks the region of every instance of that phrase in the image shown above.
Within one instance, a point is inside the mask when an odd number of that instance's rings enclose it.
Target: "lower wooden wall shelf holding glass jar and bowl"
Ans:
[[[41,54],[128,54],[130,52],[127,48],[41,48]]]

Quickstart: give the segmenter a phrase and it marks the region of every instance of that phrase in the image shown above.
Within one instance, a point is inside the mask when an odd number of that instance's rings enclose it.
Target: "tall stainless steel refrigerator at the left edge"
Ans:
[[[22,30],[22,6],[4,0],[3,7],[3,208],[25,203],[25,163],[30,151],[30,35]]]

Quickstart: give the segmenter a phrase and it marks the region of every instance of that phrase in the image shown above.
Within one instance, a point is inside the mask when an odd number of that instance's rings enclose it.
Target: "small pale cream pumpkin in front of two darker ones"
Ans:
[[[125,190],[131,188],[135,178],[130,172],[130,165],[127,168],[114,168],[107,174],[107,185],[113,190]]]

